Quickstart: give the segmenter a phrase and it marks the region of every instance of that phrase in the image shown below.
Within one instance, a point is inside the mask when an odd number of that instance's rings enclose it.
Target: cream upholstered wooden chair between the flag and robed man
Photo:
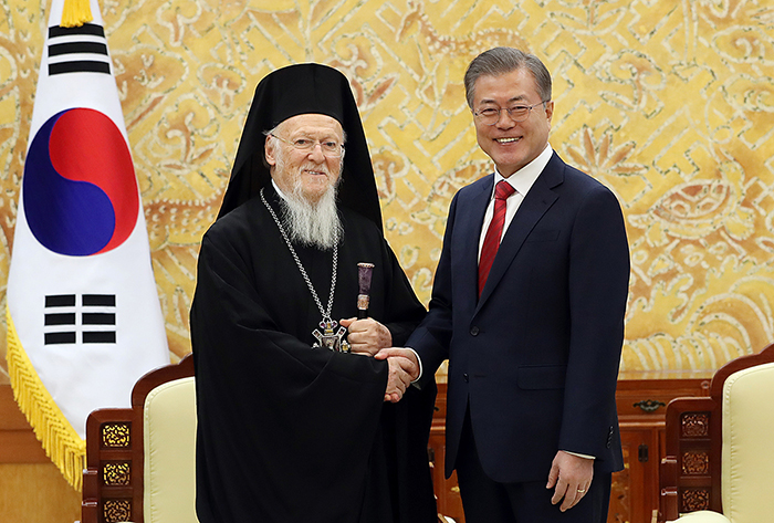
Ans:
[[[92,412],[83,523],[197,523],[196,423],[191,356],[143,376],[132,408]]]

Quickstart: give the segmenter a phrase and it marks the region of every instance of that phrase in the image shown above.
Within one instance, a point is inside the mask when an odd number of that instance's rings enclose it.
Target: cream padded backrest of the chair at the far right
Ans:
[[[774,363],[739,370],[723,385],[723,514],[734,523],[774,520]]]

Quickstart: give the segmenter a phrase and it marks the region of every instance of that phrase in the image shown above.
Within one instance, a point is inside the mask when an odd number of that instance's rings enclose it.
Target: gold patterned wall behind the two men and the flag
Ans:
[[[0,0],[3,306],[46,9]],[[190,351],[198,244],[263,75],[316,61],[351,79],[388,239],[427,302],[449,201],[491,169],[461,79],[494,45],[544,60],[552,145],[624,207],[623,369],[714,369],[774,342],[767,0],[103,0],[102,12],[172,359]]]

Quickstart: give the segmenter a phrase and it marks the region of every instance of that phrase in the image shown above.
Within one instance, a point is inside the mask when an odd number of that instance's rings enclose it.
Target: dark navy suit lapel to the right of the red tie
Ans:
[[[545,169],[543,169],[543,172],[541,172],[533,184],[530,192],[524,197],[522,205],[513,217],[513,221],[511,221],[508,231],[505,231],[502,243],[500,243],[500,248],[498,249],[498,254],[494,258],[494,263],[492,263],[492,269],[487,278],[487,284],[481,293],[477,310],[480,308],[489,295],[492,294],[492,290],[505,274],[505,271],[521,250],[524,240],[526,240],[532,229],[558,199],[558,195],[554,191],[554,188],[562,184],[563,180],[564,161],[554,153],[551,160],[545,166]]]

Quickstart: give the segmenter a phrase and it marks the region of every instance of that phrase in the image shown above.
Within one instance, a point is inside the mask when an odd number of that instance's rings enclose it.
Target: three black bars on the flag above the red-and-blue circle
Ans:
[[[49,75],[62,73],[111,74],[107,40],[102,25],[49,28]]]

